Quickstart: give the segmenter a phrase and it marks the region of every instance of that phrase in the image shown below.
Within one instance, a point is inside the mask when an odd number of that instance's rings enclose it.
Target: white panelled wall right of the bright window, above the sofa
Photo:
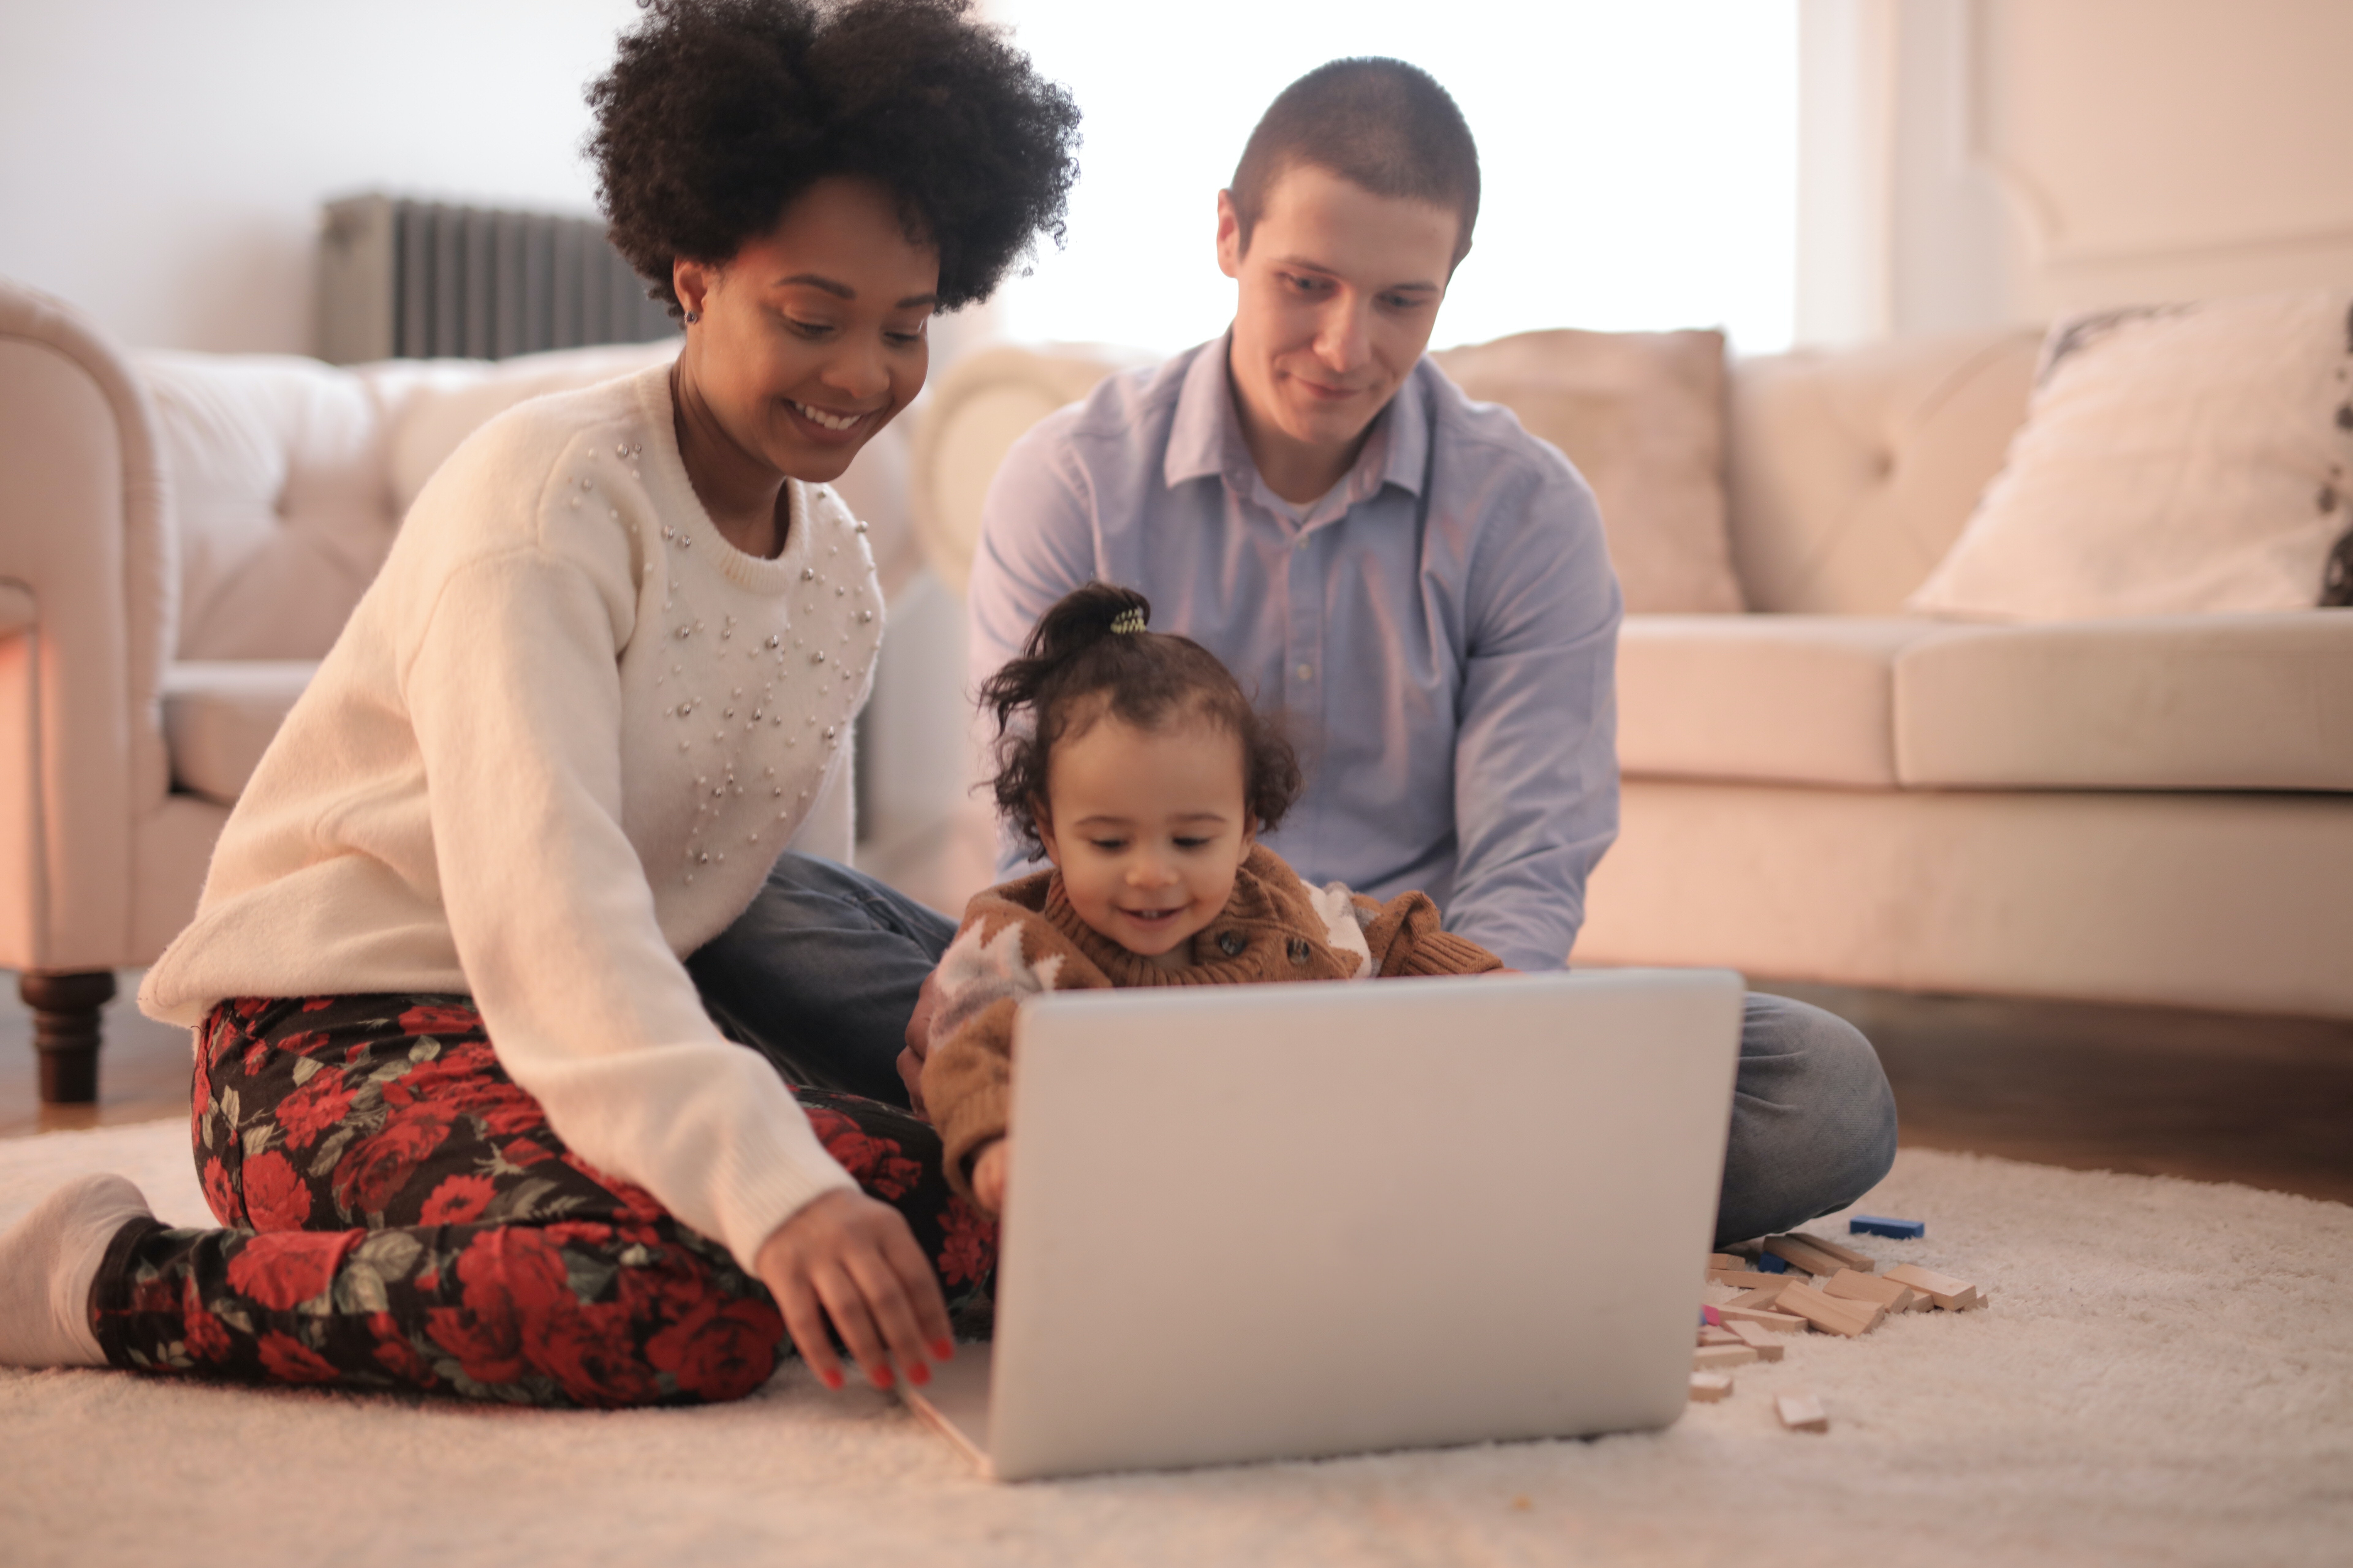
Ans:
[[[1800,0],[1798,339],[2353,282],[2346,0]]]

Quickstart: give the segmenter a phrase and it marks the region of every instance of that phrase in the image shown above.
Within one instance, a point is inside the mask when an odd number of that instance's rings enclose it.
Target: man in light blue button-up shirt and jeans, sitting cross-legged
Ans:
[[[1287,87],[1219,193],[1228,334],[1108,378],[998,470],[972,677],[1080,583],[1139,588],[1155,630],[1202,642],[1285,715],[1308,790],[1268,844],[1308,882],[1426,891],[1449,931],[1518,969],[1562,969],[1617,835],[1621,604],[1567,458],[1421,357],[1475,219],[1478,150],[1428,75],[1358,59]],[[953,926],[932,945],[826,877],[788,860],[762,903],[880,961],[889,978],[864,985],[892,994],[861,1001],[880,1018],[913,954],[871,950],[868,910],[934,957]],[[720,985],[746,959],[706,959],[713,1009],[748,1006],[748,987]],[[1751,997],[1718,1239],[1838,1208],[1892,1157],[1871,1044],[1819,1009]]]

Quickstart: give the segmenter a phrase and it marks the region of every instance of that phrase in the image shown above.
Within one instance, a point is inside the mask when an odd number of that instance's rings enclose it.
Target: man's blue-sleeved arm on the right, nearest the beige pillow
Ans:
[[[1617,837],[1624,607],[1586,482],[1551,458],[1513,489],[1468,571],[1447,931],[1560,969]]]

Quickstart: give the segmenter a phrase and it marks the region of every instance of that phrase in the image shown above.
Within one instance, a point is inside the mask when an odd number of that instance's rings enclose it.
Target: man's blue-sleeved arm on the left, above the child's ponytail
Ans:
[[[1071,454],[1078,409],[1031,428],[981,501],[981,543],[972,552],[967,679],[974,691],[1021,651],[1031,628],[1059,597],[1096,574],[1094,496]],[[986,743],[991,719],[976,719]],[[998,879],[1031,870],[1021,846],[998,830]]]

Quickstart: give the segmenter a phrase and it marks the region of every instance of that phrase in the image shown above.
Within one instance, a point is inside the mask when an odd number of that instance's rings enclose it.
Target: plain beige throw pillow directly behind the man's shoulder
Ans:
[[[1628,611],[1739,611],[1725,531],[1725,334],[1522,331],[1431,355],[1593,487]]]

